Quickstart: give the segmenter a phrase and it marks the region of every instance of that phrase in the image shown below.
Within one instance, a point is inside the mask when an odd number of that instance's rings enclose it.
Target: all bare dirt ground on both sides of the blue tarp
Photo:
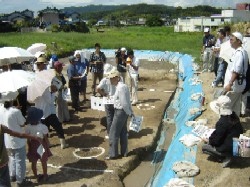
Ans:
[[[60,60],[67,65],[67,59]],[[114,64],[114,60],[109,59],[109,63]],[[136,115],[142,115],[144,121],[139,133],[129,131],[128,157],[115,161],[104,160],[108,151],[108,141],[104,138],[106,131],[102,125],[105,113],[92,110],[90,102],[81,103],[84,111],[78,114],[73,113],[69,105],[72,120],[63,124],[63,127],[70,147],[62,150],[55,132],[50,133],[50,141],[54,146],[51,148],[53,156],[48,161],[49,180],[46,183],[36,183],[32,178],[33,174],[28,163],[27,176],[34,182],[33,186],[124,186],[122,179],[137,167],[144,155],[154,151],[166,103],[176,87],[176,76],[168,73],[172,68],[173,65],[166,62],[143,61],[141,63],[138,91],[141,109],[133,106],[133,110]],[[207,118],[208,126],[213,127],[218,119],[209,107],[215,91],[210,87],[214,75],[213,73],[202,73],[200,77],[203,80],[207,108],[199,118]],[[91,96],[90,86],[91,77],[88,79],[88,98]],[[245,131],[250,130],[249,112],[246,118],[241,118],[241,121]],[[236,158],[229,168],[222,168],[221,163],[212,161],[207,155],[202,154],[201,145],[198,146],[196,157],[196,164],[200,168],[200,174],[194,178],[196,187],[250,186],[250,159]],[[92,147],[103,148],[105,153],[95,159],[78,159],[73,154],[78,148]],[[89,156],[90,154],[85,150],[77,153],[79,156]],[[92,153],[99,154],[101,150],[92,150]],[[38,165],[41,173],[41,165]],[[138,179],[140,180],[140,178]]]

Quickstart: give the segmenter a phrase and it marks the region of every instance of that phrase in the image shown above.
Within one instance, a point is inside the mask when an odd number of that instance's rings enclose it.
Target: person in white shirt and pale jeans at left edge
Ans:
[[[8,129],[24,133],[25,118],[21,111],[12,106],[12,101],[4,102],[4,110],[2,115],[2,124]],[[11,181],[16,181],[17,186],[28,184],[25,179],[26,175],[26,140],[5,135],[6,148],[9,151],[9,169]]]

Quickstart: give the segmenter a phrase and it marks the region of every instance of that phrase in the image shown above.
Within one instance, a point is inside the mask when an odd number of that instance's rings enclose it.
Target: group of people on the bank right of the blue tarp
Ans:
[[[222,83],[223,91],[218,99],[210,103],[211,109],[219,115],[219,120],[215,125],[215,131],[205,140],[207,143],[203,145],[202,150],[219,160],[224,160],[227,166],[233,155],[233,138],[239,138],[243,133],[240,117],[245,117],[249,91],[247,46],[250,43],[247,43],[246,37],[250,35],[250,28],[247,28],[245,37],[240,32],[231,33],[228,26],[218,30],[217,40],[210,34],[209,28],[205,28],[204,33],[203,71],[214,71],[212,87],[218,87]],[[229,54],[229,61],[220,56],[221,44],[227,40],[234,49],[233,53]]]

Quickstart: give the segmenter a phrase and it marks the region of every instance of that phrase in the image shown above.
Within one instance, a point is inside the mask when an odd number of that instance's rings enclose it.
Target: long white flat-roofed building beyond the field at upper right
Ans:
[[[250,20],[250,11],[222,10],[221,14],[210,17],[178,18],[174,27],[175,32],[200,32],[204,27],[218,28],[225,22],[238,23]]]

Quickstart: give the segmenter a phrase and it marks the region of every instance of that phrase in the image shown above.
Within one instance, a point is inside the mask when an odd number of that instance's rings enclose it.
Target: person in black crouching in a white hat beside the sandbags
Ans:
[[[210,103],[210,108],[220,118],[216,122],[215,131],[208,140],[204,140],[208,143],[202,146],[202,151],[223,160],[226,167],[233,153],[233,138],[238,138],[243,133],[243,128],[239,117],[232,111],[228,96],[219,96],[217,100]]]

